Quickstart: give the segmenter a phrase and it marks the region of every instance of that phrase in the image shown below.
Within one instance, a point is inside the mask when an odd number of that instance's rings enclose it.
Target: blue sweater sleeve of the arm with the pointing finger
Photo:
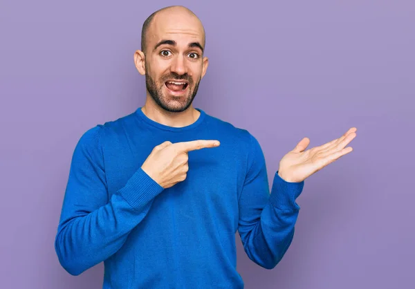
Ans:
[[[62,267],[78,275],[116,253],[146,216],[163,187],[138,169],[109,197],[100,133],[86,131],[73,152],[55,251]]]

